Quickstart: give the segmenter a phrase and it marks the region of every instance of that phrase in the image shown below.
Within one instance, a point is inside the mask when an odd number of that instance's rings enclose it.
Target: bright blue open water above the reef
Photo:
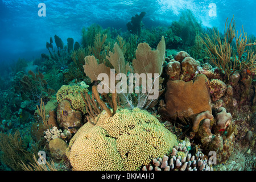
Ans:
[[[46,16],[39,16],[39,3],[45,3]],[[209,16],[210,3],[216,4],[216,16]],[[137,1],[1,1],[0,63],[11,63],[19,57],[35,59],[47,53],[46,42],[55,34],[62,40],[72,37],[80,42],[82,27],[92,23],[103,28],[122,28],[131,16],[145,11],[144,27],[169,26],[182,11],[189,9],[204,26],[224,31],[226,18],[234,15],[237,30],[244,27],[256,35],[256,1],[251,0],[137,0]]]

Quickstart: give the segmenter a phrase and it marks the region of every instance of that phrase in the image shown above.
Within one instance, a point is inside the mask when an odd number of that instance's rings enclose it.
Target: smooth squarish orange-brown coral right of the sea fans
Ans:
[[[205,75],[198,75],[195,81],[169,80],[167,82],[166,106],[159,108],[159,113],[171,118],[184,118],[199,114],[210,108],[210,94],[205,82]]]

